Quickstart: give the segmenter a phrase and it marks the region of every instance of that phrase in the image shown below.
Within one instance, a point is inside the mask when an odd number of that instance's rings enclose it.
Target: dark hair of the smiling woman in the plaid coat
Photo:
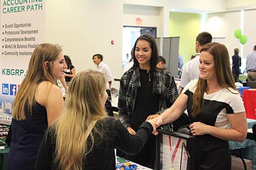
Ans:
[[[134,50],[134,49],[136,49],[136,45],[137,45],[139,40],[145,40],[149,43],[149,46],[152,50],[152,54],[151,54],[151,58],[150,58],[150,70],[155,70],[156,65],[158,63],[158,60],[159,60],[157,45],[156,45],[155,39],[152,36],[147,35],[147,34],[138,37],[135,44],[134,44],[134,47],[133,47],[133,50],[132,50],[132,57],[133,57],[133,61],[134,61],[133,68],[139,67],[139,63],[138,63],[138,60],[135,57],[135,50]]]

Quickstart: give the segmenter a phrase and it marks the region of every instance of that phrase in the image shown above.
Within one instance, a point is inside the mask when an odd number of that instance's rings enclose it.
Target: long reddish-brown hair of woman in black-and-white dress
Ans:
[[[229,90],[231,87],[237,90],[234,77],[230,69],[230,61],[228,50],[225,45],[219,43],[208,43],[201,48],[201,51],[207,51],[214,58],[214,70],[217,77],[217,81],[220,87]],[[193,105],[192,105],[192,116],[195,117],[203,110],[204,106],[204,93],[207,88],[207,81],[199,77],[197,81],[197,86],[195,93],[193,95]],[[229,90],[230,91],[230,90]],[[231,93],[234,93],[230,91]]]

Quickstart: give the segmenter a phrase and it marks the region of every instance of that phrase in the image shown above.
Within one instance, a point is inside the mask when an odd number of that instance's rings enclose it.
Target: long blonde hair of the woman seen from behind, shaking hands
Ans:
[[[107,117],[99,97],[100,94],[106,93],[106,84],[104,74],[94,70],[79,72],[69,84],[64,111],[59,120],[50,127],[55,129],[54,162],[59,163],[60,170],[82,169],[83,159],[91,149],[87,148],[88,135],[93,146],[92,131],[97,132],[92,122]],[[67,142],[67,139],[71,140]]]

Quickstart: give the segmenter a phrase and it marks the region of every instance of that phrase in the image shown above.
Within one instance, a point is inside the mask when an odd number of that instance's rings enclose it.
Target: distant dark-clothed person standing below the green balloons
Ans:
[[[235,82],[238,81],[238,77],[240,74],[239,67],[241,66],[241,57],[239,57],[238,54],[239,54],[239,49],[235,48],[234,56],[232,56],[232,74],[234,76]]]

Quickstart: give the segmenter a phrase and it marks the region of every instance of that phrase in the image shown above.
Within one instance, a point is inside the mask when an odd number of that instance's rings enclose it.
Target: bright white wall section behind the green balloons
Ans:
[[[255,15],[256,9],[244,11],[243,19],[241,19],[241,11],[209,14],[207,19],[207,31],[209,31],[213,37],[226,37],[225,45],[229,50],[230,56],[234,53],[234,48],[239,48],[240,50],[243,48],[239,55],[242,58],[246,58],[247,54],[252,51],[253,46],[256,44]],[[241,45],[239,40],[235,37],[234,32],[236,29],[243,30],[243,35],[247,35],[248,40],[245,45]]]

